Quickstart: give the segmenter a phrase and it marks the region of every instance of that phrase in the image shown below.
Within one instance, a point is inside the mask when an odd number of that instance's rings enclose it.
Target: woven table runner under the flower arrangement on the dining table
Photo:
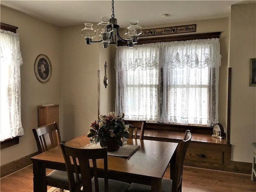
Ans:
[[[94,145],[86,145],[83,146],[82,148],[100,148],[100,144],[94,144]],[[126,157],[130,158],[136,151],[140,149],[140,145],[124,145],[119,148],[117,151],[108,151],[109,156],[118,156],[118,157]]]

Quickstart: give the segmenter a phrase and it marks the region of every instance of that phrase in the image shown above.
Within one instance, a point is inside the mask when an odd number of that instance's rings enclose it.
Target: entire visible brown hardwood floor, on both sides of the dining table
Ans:
[[[1,178],[1,192],[32,192],[32,172],[32,165],[30,165]],[[170,178],[169,168],[164,178]],[[184,166],[182,192],[256,192],[256,182],[251,181],[248,174]]]

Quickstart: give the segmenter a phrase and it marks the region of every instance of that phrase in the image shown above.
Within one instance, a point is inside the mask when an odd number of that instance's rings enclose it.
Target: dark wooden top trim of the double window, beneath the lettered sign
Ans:
[[[148,43],[158,43],[158,42],[171,42],[171,41],[186,41],[186,40],[196,40],[196,39],[210,39],[210,38],[220,38],[221,32],[212,33],[198,33],[189,35],[176,35],[176,36],[163,36],[163,37],[151,37],[151,38],[140,38],[138,40],[138,45],[148,44]],[[118,46],[126,46],[127,44],[118,41]]]

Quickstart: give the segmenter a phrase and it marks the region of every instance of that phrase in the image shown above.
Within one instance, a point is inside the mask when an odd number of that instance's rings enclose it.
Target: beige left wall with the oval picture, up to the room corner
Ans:
[[[32,133],[32,128],[38,126],[37,106],[61,104],[61,70],[60,28],[4,6],[1,6],[1,22],[17,26],[20,34],[21,118],[25,132],[19,144],[0,151],[3,165],[37,151]],[[34,62],[39,54],[47,55],[52,63],[52,77],[46,83],[39,82],[34,73]]]

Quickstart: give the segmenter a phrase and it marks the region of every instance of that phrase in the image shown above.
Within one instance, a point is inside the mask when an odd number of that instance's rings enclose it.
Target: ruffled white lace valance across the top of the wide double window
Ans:
[[[150,70],[155,68],[217,68],[221,65],[220,41],[218,38],[160,42],[135,45],[134,48],[117,48],[115,66],[121,70]]]

